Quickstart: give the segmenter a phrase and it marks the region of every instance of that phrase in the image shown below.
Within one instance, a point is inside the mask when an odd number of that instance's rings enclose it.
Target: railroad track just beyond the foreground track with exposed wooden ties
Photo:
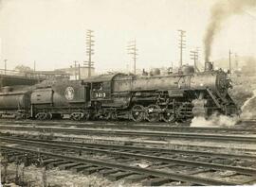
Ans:
[[[27,127],[27,126],[0,126],[1,130],[19,130],[19,131],[37,131],[37,132],[56,132],[67,133],[69,135],[104,135],[104,136],[134,136],[148,138],[164,138],[164,139],[196,139],[210,141],[231,141],[247,144],[254,144],[256,136],[248,135],[220,135],[212,133],[187,133],[187,132],[163,132],[163,131],[145,131],[145,130],[114,130],[114,129],[92,129],[92,128],[68,128],[68,127]]]

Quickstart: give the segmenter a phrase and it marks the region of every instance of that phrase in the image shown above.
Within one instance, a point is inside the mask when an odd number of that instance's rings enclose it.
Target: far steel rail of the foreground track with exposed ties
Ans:
[[[81,147],[81,146],[74,146],[74,145],[66,145],[66,144],[51,144],[51,143],[43,143],[43,142],[36,142],[36,141],[26,141],[20,139],[11,139],[11,138],[0,138],[4,139],[7,142],[14,142],[16,144],[35,144],[35,145],[43,145],[49,147],[57,147],[57,148],[65,148],[65,149],[72,149],[72,150],[80,150],[80,151],[89,151],[89,152],[99,152],[108,155],[118,155],[118,156],[125,156],[128,158],[137,158],[149,161],[162,161],[166,163],[176,163],[182,165],[192,165],[192,166],[202,166],[207,168],[219,169],[219,170],[230,170],[235,171],[240,174],[252,175],[256,174],[256,169],[253,168],[245,168],[245,167],[236,167],[236,166],[229,166],[223,164],[216,164],[216,163],[208,163],[202,161],[186,161],[186,160],[179,160],[179,159],[172,159],[172,158],[164,158],[160,156],[150,156],[150,155],[142,155],[137,153],[127,153],[127,152],[120,152],[116,150],[103,150],[99,148],[88,148],[88,147]]]

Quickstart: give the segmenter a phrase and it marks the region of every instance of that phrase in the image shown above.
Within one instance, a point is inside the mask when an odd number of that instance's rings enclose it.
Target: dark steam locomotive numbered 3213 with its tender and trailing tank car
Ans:
[[[193,116],[239,113],[228,90],[231,80],[222,70],[195,73],[183,66],[167,76],[124,74],[55,80],[34,86],[3,87],[0,115],[39,120],[131,119],[136,122],[185,122]]]

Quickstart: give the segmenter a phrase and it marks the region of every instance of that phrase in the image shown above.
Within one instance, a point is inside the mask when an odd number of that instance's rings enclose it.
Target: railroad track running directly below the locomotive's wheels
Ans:
[[[187,125],[162,125],[162,124],[147,124],[147,123],[103,123],[99,122],[41,122],[41,121],[0,121],[2,125],[22,125],[22,126],[36,126],[36,127],[87,127],[87,128],[112,128],[112,129],[149,129],[157,131],[186,131],[186,132],[218,132],[218,133],[232,133],[232,134],[256,134],[256,123],[255,127],[190,127]]]

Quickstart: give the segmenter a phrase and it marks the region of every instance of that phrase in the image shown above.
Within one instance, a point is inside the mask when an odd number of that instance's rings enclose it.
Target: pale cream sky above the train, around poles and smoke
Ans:
[[[24,64],[54,70],[87,60],[86,29],[94,30],[97,72],[132,68],[129,41],[137,40],[137,68],[178,65],[178,29],[186,30],[184,63],[203,39],[210,8],[217,0],[0,0],[0,68]],[[256,8],[234,15],[222,26],[210,59],[256,57]]]

